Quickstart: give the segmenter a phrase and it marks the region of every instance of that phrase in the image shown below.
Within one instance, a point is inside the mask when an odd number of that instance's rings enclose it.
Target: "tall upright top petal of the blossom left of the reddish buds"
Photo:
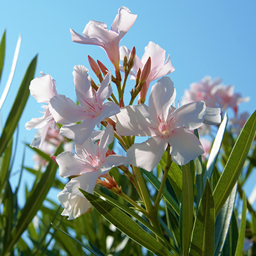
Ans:
[[[81,106],[84,106],[84,103],[87,101],[93,102],[91,77],[88,75],[88,71],[82,65],[75,66],[73,71],[76,97]]]

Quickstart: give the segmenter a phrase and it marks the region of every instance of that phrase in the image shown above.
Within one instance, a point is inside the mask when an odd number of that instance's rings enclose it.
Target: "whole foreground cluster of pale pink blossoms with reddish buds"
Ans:
[[[42,136],[35,138],[31,146],[42,147],[47,130],[55,123],[62,125],[61,136],[76,142],[75,152],[65,151],[56,158],[52,157],[60,166],[60,176],[70,178],[58,195],[65,208],[62,214],[68,216],[68,220],[77,218],[91,208],[79,188],[93,193],[95,185],[99,184],[114,192],[120,191],[121,188],[108,174],[111,168],[119,167],[137,189],[134,166],[151,172],[166,148],[173,162],[179,165],[189,163],[204,154],[200,140],[193,131],[203,123],[220,124],[220,109],[212,108],[216,107],[212,104],[207,105],[206,96],[206,104],[196,98],[193,99],[195,102],[175,108],[176,90],[170,77],[166,77],[175,69],[170,55],[165,60],[165,51],[159,45],[149,42],[141,60],[136,56],[135,48],[129,51],[122,46],[119,49],[120,40],[136,17],[128,8],[122,7],[110,30],[106,24],[95,20],[85,26],[83,36],[71,29],[74,42],[99,45],[115,68],[115,74],[112,74],[103,63],[89,56],[90,66],[99,78],[99,84],[96,84],[86,67],[75,66],[73,76],[78,105],[56,92],[56,83],[49,75],[42,74],[31,82],[31,95],[38,102],[46,104],[43,106],[44,116],[33,118],[26,124],[27,129],[43,129]],[[124,72],[123,79],[120,71]],[[125,106],[124,90],[128,76],[134,79],[135,85],[131,90],[130,103]],[[157,79],[147,106],[144,102],[149,84]],[[118,97],[113,95],[111,84],[116,85]],[[132,102],[137,96],[139,104],[133,106]],[[95,127],[100,125],[105,129],[98,130],[99,134],[95,136]],[[127,152],[126,157],[108,149],[114,136]],[[150,138],[142,143],[134,143],[135,136]]]

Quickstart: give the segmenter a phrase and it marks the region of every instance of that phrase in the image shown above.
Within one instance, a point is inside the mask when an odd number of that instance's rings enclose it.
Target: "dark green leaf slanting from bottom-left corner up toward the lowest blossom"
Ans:
[[[63,148],[62,145],[60,145],[54,155],[56,156],[62,151]],[[40,181],[34,186],[28,200],[26,201],[26,204],[24,205],[24,208],[20,213],[17,225],[12,231],[12,239],[10,239],[5,253],[12,250],[13,245],[17,242],[24,230],[26,230],[36,212],[40,209],[49,189],[51,188],[52,182],[54,181],[57,169],[58,165],[54,161],[49,162],[44,174],[42,175]]]

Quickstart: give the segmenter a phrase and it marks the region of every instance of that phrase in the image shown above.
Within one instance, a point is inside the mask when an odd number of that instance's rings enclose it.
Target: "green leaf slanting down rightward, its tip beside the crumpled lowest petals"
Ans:
[[[150,252],[156,253],[156,255],[172,255],[163,244],[159,243],[117,207],[82,189],[80,189],[80,191],[106,220],[115,225],[116,228],[136,243],[141,244],[141,246],[144,246],[150,250]]]

